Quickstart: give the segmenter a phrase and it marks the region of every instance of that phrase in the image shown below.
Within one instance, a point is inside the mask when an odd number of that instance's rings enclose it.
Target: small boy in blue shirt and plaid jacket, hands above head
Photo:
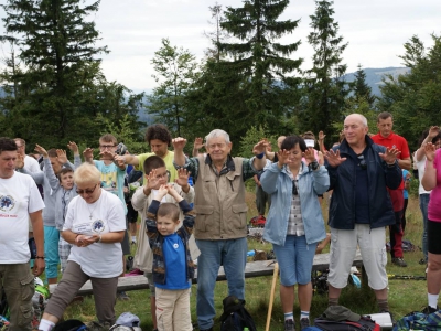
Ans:
[[[182,227],[179,227],[179,207],[174,203],[161,204],[168,194],[173,196],[185,215]],[[190,293],[194,263],[189,239],[193,232],[194,218],[191,206],[173,185],[163,184],[159,188],[149,206],[146,227],[150,248],[153,250],[157,324],[160,331],[193,330]]]

